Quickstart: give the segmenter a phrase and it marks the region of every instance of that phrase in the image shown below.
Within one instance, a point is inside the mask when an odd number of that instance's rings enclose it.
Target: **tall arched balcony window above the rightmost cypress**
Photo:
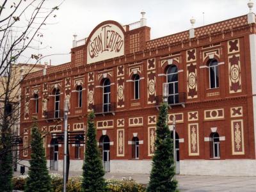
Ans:
[[[168,104],[179,103],[178,68],[176,65],[168,67],[166,77],[169,86]]]

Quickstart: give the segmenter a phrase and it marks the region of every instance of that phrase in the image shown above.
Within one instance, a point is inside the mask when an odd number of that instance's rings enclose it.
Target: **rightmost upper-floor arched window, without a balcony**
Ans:
[[[210,88],[219,87],[219,69],[217,60],[209,60],[209,85]]]

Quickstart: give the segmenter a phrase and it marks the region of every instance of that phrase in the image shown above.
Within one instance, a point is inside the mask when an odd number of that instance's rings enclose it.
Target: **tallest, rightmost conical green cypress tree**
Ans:
[[[177,188],[177,180],[174,180],[173,140],[166,122],[167,115],[167,104],[161,104],[156,124],[156,151],[152,159],[148,192],[175,191]]]

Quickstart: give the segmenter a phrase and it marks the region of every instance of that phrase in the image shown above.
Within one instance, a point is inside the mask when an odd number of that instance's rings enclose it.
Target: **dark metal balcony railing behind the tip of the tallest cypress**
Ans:
[[[163,102],[163,95],[156,96],[156,106],[160,106],[161,102]],[[180,92],[169,95],[168,97],[168,104],[170,106],[177,106],[184,104],[186,102],[186,93]]]

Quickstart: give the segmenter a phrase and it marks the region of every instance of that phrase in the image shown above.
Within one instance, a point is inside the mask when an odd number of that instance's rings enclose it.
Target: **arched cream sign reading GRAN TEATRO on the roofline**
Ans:
[[[124,33],[115,24],[100,26],[87,45],[87,64],[124,55]]]

